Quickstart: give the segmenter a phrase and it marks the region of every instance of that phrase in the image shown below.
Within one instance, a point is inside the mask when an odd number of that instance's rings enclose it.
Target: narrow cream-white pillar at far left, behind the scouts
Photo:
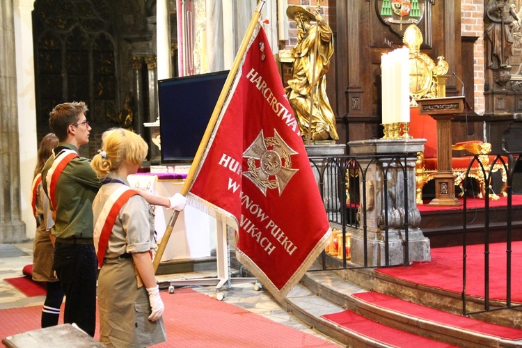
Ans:
[[[34,0],[14,0],[16,79],[18,90],[18,124],[23,125],[19,132],[20,149],[20,205],[22,221],[26,224],[27,237],[33,238],[36,222],[31,207],[31,183],[37,162],[38,141],[36,137],[36,102],[33,48]]]

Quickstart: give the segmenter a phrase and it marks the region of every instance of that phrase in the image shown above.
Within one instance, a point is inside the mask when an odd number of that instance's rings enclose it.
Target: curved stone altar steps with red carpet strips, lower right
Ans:
[[[351,274],[347,275],[347,272]],[[358,279],[355,282],[348,280],[353,277]],[[368,282],[381,289],[383,280],[377,278],[381,276],[367,269],[340,273],[309,271],[281,306],[306,325],[350,347],[522,347],[522,331],[519,329],[463,317],[455,314],[454,308],[453,314],[434,308],[435,299],[445,296],[440,290],[429,292],[424,289],[423,294],[413,294],[407,287],[390,282],[386,289],[394,296],[388,296],[371,292],[372,287],[356,285]],[[420,302],[431,298],[426,301],[431,307],[412,305],[405,300],[411,297]],[[448,308],[449,302],[458,307],[458,301],[451,296],[450,301],[441,301],[441,307]],[[487,313],[482,318],[495,322],[500,312],[503,316],[520,315],[518,310],[496,312],[496,315]],[[336,318],[338,323],[332,321]],[[372,332],[378,334],[372,335]],[[402,341],[397,342],[397,339]],[[422,343],[423,340],[432,341]]]

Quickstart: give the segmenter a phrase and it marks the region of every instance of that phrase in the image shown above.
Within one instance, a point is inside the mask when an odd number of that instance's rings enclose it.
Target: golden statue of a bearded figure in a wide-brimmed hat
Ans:
[[[319,12],[314,12],[302,6],[287,8],[287,16],[295,20],[298,33],[297,45],[292,49],[292,79],[285,91],[303,139],[337,140],[335,115],[326,95],[326,72],[333,55],[333,33]],[[313,97],[313,102],[310,97]]]

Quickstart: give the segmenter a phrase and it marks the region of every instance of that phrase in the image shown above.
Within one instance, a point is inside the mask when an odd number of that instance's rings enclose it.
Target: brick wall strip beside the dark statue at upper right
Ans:
[[[461,35],[477,36],[473,49],[473,71],[475,72],[475,112],[482,114],[484,100],[484,0],[462,0]]]

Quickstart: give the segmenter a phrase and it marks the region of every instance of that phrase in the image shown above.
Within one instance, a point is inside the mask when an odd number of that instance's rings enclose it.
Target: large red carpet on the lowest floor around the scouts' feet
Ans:
[[[155,347],[337,347],[191,289],[161,292],[161,299],[168,340]],[[0,310],[0,340],[40,329],[41,310],[41,306]]]

